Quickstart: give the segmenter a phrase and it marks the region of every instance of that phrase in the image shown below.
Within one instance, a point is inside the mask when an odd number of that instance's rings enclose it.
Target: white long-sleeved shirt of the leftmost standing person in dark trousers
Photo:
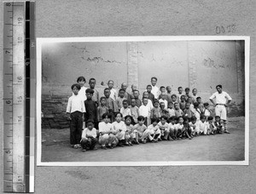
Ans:
[[[84,100],[79,96],[79,94],[69,97],[67,101],[66,112],[72,113],[74,111],[85,112]]]

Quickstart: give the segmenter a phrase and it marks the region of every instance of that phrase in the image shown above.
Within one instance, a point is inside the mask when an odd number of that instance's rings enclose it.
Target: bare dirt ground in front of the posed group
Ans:
[[[229,118],[231,134],[203,135],[193,140],[161,141],[129,147],[81,151],[69,145],[69,128],[43,129],[42,162],[242,161],[244,117]]]

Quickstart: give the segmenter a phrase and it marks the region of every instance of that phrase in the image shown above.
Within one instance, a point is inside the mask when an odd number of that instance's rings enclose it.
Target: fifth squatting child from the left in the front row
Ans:
[[[137,124],[134,125],[134,133],[136,135],[136,142],[142,142],[145,144],[147,142],[148,134],[144,133],[147,129],[146,125],[144,125],[145,118],[143,116],[137,117]]]

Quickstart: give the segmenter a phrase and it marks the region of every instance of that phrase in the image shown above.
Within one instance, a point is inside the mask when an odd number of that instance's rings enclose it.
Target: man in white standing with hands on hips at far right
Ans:
[[[226,107],[230,104],[232,100],[230,95],[222,90],[222,85],[216,86],[217,92],[212,94],[209,100],[215,106],[215,114],[219,116],[224,125],[224,133],[230,134],[227,129],[227,109]],[[215,99],[215,102],[213,101]]]

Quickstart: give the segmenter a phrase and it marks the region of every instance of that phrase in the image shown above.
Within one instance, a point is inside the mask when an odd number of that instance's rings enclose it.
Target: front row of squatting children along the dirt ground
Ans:
[[[104,113],[102,115],[102,122],[99,123],[99,131],[94,128],[94,121],[87,121],[87,128],[84,128],[81,139],[81,146],[83,151],[96,150],[97,142],[102,146],[102,149],[113,149],[119,145],[131,146],[133,144],[158,142],[161,140],[181,140],[201,134],[221,134],[223,127],[220,124],[220,118],[206,117],[201,115],[200,122],[196,122],[196,118],[192,117],[189,122],[188,117],[170,117],[165,116],[152,118],[148,127],[144,124],[145,118],[139,116],[138,123],[132,125],[133,118],[130,115],[125,116],[118,112],[115,117],[115,122],[110,123],[111,115]],[[98,138],[97,138],[98,136]],[[75,146],[78,148],[79,146]]]

